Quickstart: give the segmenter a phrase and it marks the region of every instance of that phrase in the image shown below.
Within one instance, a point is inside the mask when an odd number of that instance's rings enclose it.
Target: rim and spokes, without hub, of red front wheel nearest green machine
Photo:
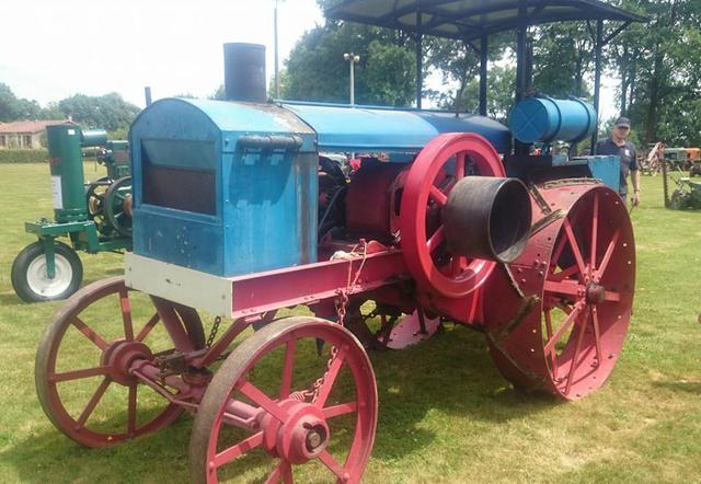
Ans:
[[[90,321],[82,321],[80,314],[91,303],[99,301],[105,297],[116,296],[119,299],[119,306],[124,308],[124,296],[128,300],[129,290],[124,285],[123,277],[114,277],[110,279],[93,283],[69,298],[66,304],[56,313],[54,321],[47,327],[44,334],[39,352],[37,353],[35,380],[39,401],[44,412],[51,423],[69,438],[88,447],[104,447],[116,442],[120,442],[130,438],[139,437],[145,434],[154,431],[170,423],[172,423],[182,410],[174,404],[163,400],[163,410],[157,413],[146,423],[138,425],[138,387],[139,383],[122,384],[112,377],[108,365],[104,365],[103,355],[113,341],[107,342],[100,336],[99,333],[92,331]],[[125,312],[123,312],[124,319]],[[129,311],[130,318],[130,311]],[[130,321],[131,336],[130,338],[145,339],[156,324],[159,324],[160,318],[152,316],[142,327],[139,323]],[[127,332],[127,323],[125,322],[125,333]],[[137,327],[137,325],[139,327]],[[69,371],[57,371],[57,356],[66,333],[70,326],[78,329],[80,333],[85,335],[92,343],[102,350],[100,364],[92,368],[76,368]],[[85,330],[87,327],[87,330]],[[125,339],[129,336],[125,335]],[[102,346],[102,348],[101,348]],[[76,377],[76,378],[72,378]],[[70,412],[64,404],[59,391],[59,383],[69,384],[73,380],[82,380],[84,378],[102,377],[101,383],[95,389],[91,399],[88,400],[80,415],[77,412]],[[128,391],[126,402],[126,422],[125,430],[119,433],[96,431],[90,428],[90,417],[95,407],[100,404],[110,385],[126,387]]]

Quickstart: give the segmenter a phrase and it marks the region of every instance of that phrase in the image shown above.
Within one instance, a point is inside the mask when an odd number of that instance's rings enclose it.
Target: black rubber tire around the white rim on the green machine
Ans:
[[[76,251],[73,251],[69,245],[62,242],[54,241],[54,246],[56,253],[66,257],[71,268],[73,269],[73,277],[70,280],[70,284],[64,292],[50,298],[38,295],[32,290],[30,284],[26,280],[26,270],[34,260],[44,255],[44,244],[41,241],[36,241],[22,249],[22,251],[20,251],[18,256],[14,258],[14,262],[12,263],[10,277],[12,279],[12,288],[23,301],[42,302],[66,299],[80,288],[80,285],[83,280],[83,264],[80,261],[80,257],[78,256]]]

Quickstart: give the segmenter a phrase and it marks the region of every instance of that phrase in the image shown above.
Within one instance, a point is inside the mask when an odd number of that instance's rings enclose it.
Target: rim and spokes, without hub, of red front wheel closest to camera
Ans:
[[[372,449],[372,442],[375,439],[375,429],[377,426],[377,389],[375,385],[375,374],[372,372],[369,359],[367,355],[363,350],[360,344],[348,333],[346,330],[341,326],[330,323],[324,320],[318,320],[313,318],[288,318],[281,320],[286,324],[291,324],[288,330],[280,333],[279,337],[275,337],[269,339],[266,344],[260,345],[257,347],[257,342],[253,342],[246,345],[252,341],[252,338],[246,339],[237,350],[240,354],[244,354],[246,352],[252,352],[251,357],[245,361],[239,361],[238,370],[234,374],[230,374],[230,390],[226,393],[225,399],[220,399],[218,410],[216,412],[216,416],[214,417],[214,422],[210,426],[210,433],[208,434],[207,445],[206,445],[206,459],[207,469],[205,472],[205,479],[202,479],[203,475],[194,469],[195,473],[198,475],[195,476],[195,481],[197,482],[207,482],[215,483],[218,482],[217,470],[223,468],[225,465],[230,464],[231,462],[235,462],[235,459],[245,454],[245,452],[257,449],[260,447],[266,446],[266,439],[269,438],[269,434],[266,429],[269,429],[269,425],[278,425],[281,429],[285,427],[284,423],[278,423],[276,418],[273,416],[272,412],[266,412],[261,405],[260,411],[263,414],[266,414],[263,418],[263,422],[268,423],[268,426],[262,426],[262,429],[254,431],[250,437],[245,438],[237,442],[233,446],[228,447],[226,450],[217,451],[217,443],[220,437],[222,420],[223,420],[223,410],[227,403],[230,401],[231,395],[239,391],[243,393],[246,397],[250,397],[254,403],[258,403],[256,401],[256,389],[249,388],[253,387],[250,382],[245,381],[245,374],[249,372],[251,368],[255,368],[255,366],[265,358],[272,350],[276,348],[280,348],[285,346],[285,367],[287,368],[287,362],[295,360],[295,347],[301,338],[322,338],[327,344],[336,344],[337,347],[342,348],[340,358],[343,358],[343,362],[341,365],[332,365],[330,373],[335,371],[335,377],[333,380],[329,380],[329,376],[326,376],[325,384],[329,384],[331,381],[331,387],[337,377],[337,372],[340,371],[341,366],[348,366],[350,372],[353,374],[353,380],[355,383],[356,396],[354,402],[355,407],[350,408],[353,405],[348,405],[348,402],[344,402],[338,405],[330,405],[324,406],[325,397],[329,396],[329,393],[322,389],[320,392],[320,399],[317,401],[319,403],[314,403],[314,405],[319,405],[319,410],[322,411],[325,415],[327,413],[326,419],[332,420],[333,418],[347,415],[347,414],[356,414],[355,418],[355,434],[353,437],[353,442],[350,448],[348,449],[348,453],[346,456],[346,460],[343,464],[340,464],[335,461],[335,458],[331,454],[331,452],[325,449],[320,456],[312,458],[310,461],[315,459],[320,460],[329,470],[332,472],[331,476],[335,476],[337,482],[359,482],[361,474],[367,465],[367,461],[370,457],[370,451]],[[263,332],[275,333],[276,325],[279,325],[280,321],[271,323],[269,326],[261,330],[257,334]],[[257,335],[256,334],[256,335]],[[295,343],[290,343],[295,342]],[[291,349],[290,349],[291,348]],[[290,353],[291,352],[291,353]],[[292,355],[291,357],[289,355]],[[234,354],[230,356],[230,358],[234,358]],[[234,359],[227,359],[225,365],[219,369],[219,372],[228,372],[234,365],[231,362],[235,361]],[[217,373],[218,376],[219,373]],[[277,401],[274,401],[276,396],[269,396],[271,402],[274,402],[274,405],[277,407],[275,412],[283,408],[283,412],[289,408],[289,400],[284,400],[283,395],[295,395],[297,392],[291,391],[289,382],[291,381],[291,372],[288,377],[286,377],[287,372],[283,370],[281,381],[280,381],[280,394]],[[215,378],[217,378],[215,376]],[[245,385],[245,387],[244,387]],[[291,391],[291,392],[290,392]],[[330,392],[331,390],[329,390]],[[322,396],[324,395],[325,396]],[[200,406],[200,412],[203,412],[203,407],[207,404],[208,394],[205,395],[203,400],[203,404]],[[289,396],[290,399],[292,396]],[[323,401],[322,401],[323,399]],[[261,400],[264,402],[264,400]],[[323,410],[322,410],[323,408]],[[290,413],[291,415],[291,413]],[[198,414],[199,417],[199,414]],[[272,424],[271,424],[272,423]],[[198,426],[198,422],[196,420],[195,427]],[[197,435],[198,429],[195,428],[193,435]],[[330,433],[327,436],[327,440],[331,441],[333,439],[333,433]],[[196,439],[191,441],[191,456],[193,456],[193,446],[196,445]],[[277,447],[276,447],[277,449]],[[231,457],[234,456],[235,457]],[[228,457],[227,457],[228,456]],[[274,457],[275,458],[275,457]],[[277,456],[279,462],[276,463],[273,472],[268,474],[268,479],[266,482],[294,482],[292,477],[292,468],[296,465],[295,463],[289,462],[284,457]],[[229,460],[226,460],[229,459]],[[226,462],[223,462],[226,460]],[[306,462],[304,462],[306,463]],[[303,463],[298,463],[302,465]],[[329,475],[329,474],[326,474]]]

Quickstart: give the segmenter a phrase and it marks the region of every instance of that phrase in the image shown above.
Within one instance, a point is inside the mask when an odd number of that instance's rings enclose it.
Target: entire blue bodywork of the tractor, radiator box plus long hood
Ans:
[[[505,126],[469,114],[158,101],[129,134],[134,252],[223,277],[317,262],[319,151],[409,163],[456,131],[482,135],[501,152],[510,147]]]

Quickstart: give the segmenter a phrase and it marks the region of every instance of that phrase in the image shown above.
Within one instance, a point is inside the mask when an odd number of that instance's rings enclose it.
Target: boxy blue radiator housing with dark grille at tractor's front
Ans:
[[[298,146],[242,142],[277,135]],[[288,111],[166,99],[129,138],[135,253],[225,277],[317,260],[317,137]]]

